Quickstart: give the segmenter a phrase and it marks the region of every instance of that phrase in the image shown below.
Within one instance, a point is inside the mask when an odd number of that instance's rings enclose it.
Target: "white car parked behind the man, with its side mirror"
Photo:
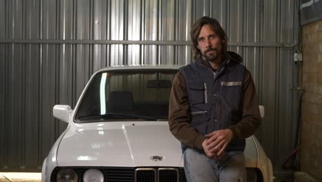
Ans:
[[[169,131],[173,66],[119,66],[93,74],[74,110],[55,105],[68,126],[43,161],[41,181],[186,181],[180,141]],[[248,181],[272,181],[255,136],[246,139]]]

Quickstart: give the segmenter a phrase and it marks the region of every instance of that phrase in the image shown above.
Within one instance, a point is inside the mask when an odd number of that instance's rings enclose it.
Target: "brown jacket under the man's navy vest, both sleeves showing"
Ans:
[[[204,64],[211,68],[207,61]],[[233,140],[245,139],[251,136],[261,122],[256,88],[248,70],[245,71],[242,86],[244,90],[242,119],[236,125],[230,125],[229,127],[233,132]],[[206,136],[197,132],[190,124],[186,81],[181,72],[178,72],[173,79],[169,101],[169,127],[171,133],[179,141],[189,145],[191,148],[202,150],[202,142],[206,139]]]

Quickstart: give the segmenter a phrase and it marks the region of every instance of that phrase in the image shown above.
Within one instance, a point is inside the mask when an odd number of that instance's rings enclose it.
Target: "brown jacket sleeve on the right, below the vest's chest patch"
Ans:
[[[243,81],[242,117],[236,125],[229,127],[233,132],[234,139],[246,139],[255,133],[261,123],[259,103],[252,75],[245,71]]]

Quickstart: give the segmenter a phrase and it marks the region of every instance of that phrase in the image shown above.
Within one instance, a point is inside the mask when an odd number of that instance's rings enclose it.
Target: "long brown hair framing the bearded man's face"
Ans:
[[[193,23],[193,26],[191,28],[190,36],[193,41],[193,58],[197,60],[201,52],[198,49],[198,37],[200,34],[200,30],[202,29],[202,26],[204,25],[209,25],[213,30],[216,32],[216,34],[219,35],[220,40],[222,41],[222,58],[227,59],[229,57],[229,54],[227,52],[227,42],[228,42],[228,37],[226,35],[226,32],[222,29],[222,26],[220,26],[219,22],[211,17],[201,17],[198,19],[195,23]]]

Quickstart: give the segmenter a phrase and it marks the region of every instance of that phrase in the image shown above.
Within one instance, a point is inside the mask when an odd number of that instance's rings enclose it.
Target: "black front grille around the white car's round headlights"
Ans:
[[[99,169],[104,173],[105,182],[186,182],[184,168],[79,168],[68,167],[76,170],[78,181],[83,181],[83,174],[87,169]],[[56,182],[59,169],[52,172],[50,181]]]

